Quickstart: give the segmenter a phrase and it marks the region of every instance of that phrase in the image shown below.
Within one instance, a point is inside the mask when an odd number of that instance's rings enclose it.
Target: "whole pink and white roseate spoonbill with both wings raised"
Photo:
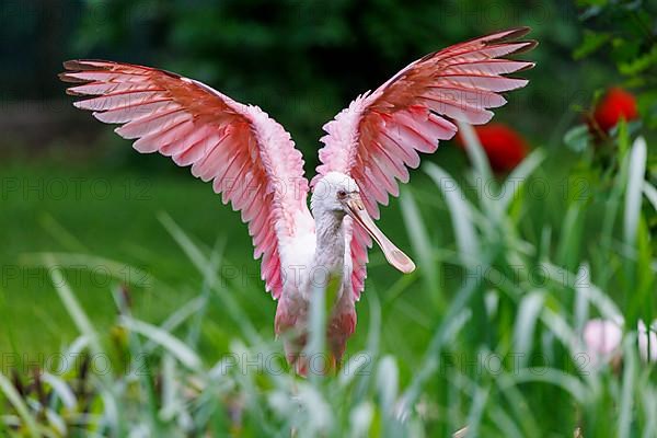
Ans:
[[[313,283],[338,285],[327,323],[333,365],[356,327],[355,302],[365,287],[367,251],[373,239],[403,273],[415,265],[377,228],[379,204],[399,196],[418,152],[431,153],[457,132],[453,120],[484,124],[502,106],[502,92],[527,80],[505,77],[533,62],[505,59],[527,51],[511,28],[429,54],[374,92],[358,96],[324,126],[321,164],[309,184],[301,153],[284,128],[260,107],[243,105],[193,79],[164,70],[103,60],[71,60],[60,78],[68,93],[93,96],[74,103],[142,153],[160,152],[192,174],[212,181],[224,204],[241,211],[262,257],[262,278],[278,299],[275,330],[299,373]],[[310,210],[307,195],[313,193]],[[312,214],[311,214],[312,212]],[[319,273],[319,275],[318,275]],[[335,283],[337,281],[337,283]]]

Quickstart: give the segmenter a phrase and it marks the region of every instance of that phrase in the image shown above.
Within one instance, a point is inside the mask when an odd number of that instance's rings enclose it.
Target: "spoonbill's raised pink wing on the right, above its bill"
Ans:
[[[499,94],[527,84],[503,74],[533,67],[533,62],[498,59],[533,48],[533,41],[514,41],[528,27],[511,28],[429,54],[407,66],[371,94],[358,96],[348,108],[324,125],[318,176],[331,171],[350,175],[368,212],[379,218],[378,204],[399,196],[397,181],[408,182],[408,169],[419,165],[417,152],[431,153],[438,140],[457,132],[450,119],[485,124],[487,108],[502,106]],[[315,180],[313,180],[314,182]],[[371,240],[353,227],[354,295],[365,286],[367,249]]]

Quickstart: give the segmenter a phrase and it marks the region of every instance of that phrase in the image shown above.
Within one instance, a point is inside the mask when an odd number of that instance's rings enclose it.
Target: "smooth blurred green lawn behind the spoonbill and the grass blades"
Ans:
[[[151,322],[161,322],[194,297],[203,278],[166,231],[162,217],[170,217],[201,247],[224,250],[218,273],[243,287],[234,298],[258,321],[263,335],[273,336],[276,303],[264,291],[260,262],[253,261],[251,239],[239,215],[186,171],[152,175],[131,169],[116,172],[89,161],[70,165],[59,160],[19,161],[2,168],[5,214],[0,227],[12,232],[5,233],[0,247],[0,316],[7,322],[1,351],[39,361],[74,337],[74,325],[53,286],[51,269],[43,265],[45,253],[56,254],[66,267],[69,284],[102,331],[114,323],[112,290],[119,285],[129,290],[134,314]],[[381,222],[395,242],[407,247],[397,204],[393,200]],[[378,250],[371,258],[368,290],[374,293],[399,276],[383,265]],[[413,301],[403,304],[403,312],[413,313],[417,306]],[[359,310],[367,323],[367,303]],[[217,359],[235,327],[220,303],[208,311],[211,341],[203,353]],[[424,323],[429,324],[428,318]]]

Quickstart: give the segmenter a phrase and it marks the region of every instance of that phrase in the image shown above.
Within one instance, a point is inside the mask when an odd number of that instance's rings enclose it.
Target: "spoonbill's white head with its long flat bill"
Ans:
[[[310,208],[315,220],[326,214],[342,220],[349,215],[379,244],[388,263],[408,274],[415,270],[413,261],[397,249],[374,224],[360,199],[360,188],[349,175],[328,172],[314,186]]]

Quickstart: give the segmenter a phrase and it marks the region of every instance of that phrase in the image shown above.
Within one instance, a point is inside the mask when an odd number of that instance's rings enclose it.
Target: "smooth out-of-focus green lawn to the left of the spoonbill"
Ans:
[[[198,279],[191,266],[181,263],[175,242],[159,222],[162,211],[208,246],[228,237],[229,244],[245,249],[232,252],[233,263],[257,269],[237,215],[193,178],[23,164],[3,169],[2,177],[3,209],[10,214],[2,215],[0,227],[12,230],[3,233],[0,249],[4,269],[0,312],[11,322],[7,327],[11,333],[0,339],[3,351],[13,344],[21,351],[54,353],[73,334],[48,269],[38,267],[37,252],[82,254],[70,262],[78,268],[67,275],[82,306],[104,326],[114,318],[108,290],[116,280],[128,284],[135,311],[146,319],[163,319],[186,302]],[[18,188],[8,182],[18,182]],[[95,258],[87,257],[91,254]],[[113,268],[103,258],[120,260],[125,266]],[[258,306],[270,303],[263,299]],[[33,324],[38,330],[28,330]]]

